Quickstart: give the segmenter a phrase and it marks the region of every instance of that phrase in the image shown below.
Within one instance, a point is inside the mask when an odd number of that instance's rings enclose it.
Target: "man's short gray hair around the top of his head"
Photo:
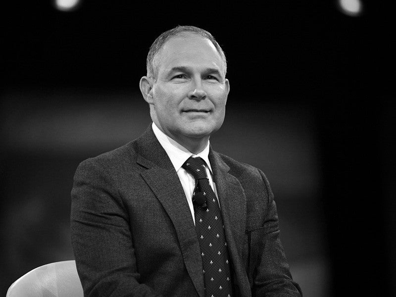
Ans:
[[[164,33],[162,33],[160,36],[158,36],[152,45],[150,46],[150,49],[148,50],[148,55],[147,55],[147,76],[151,77],[153,79],[157,78],[158,75],[158,67],[155,65],[154,66],[154,60],[158,52],[162,49],[164,44],[174,36],[183,36],[183,33],[185,32],[192,32],[194,34],[200,35],[204,38],[209,39],[214,47],[217,49],[218,53],[220,54],[223,66],[224,66],[224,75],[227,73],[227,60],[226,60],[226,55],[224,54],[223,49],[220,47],[220,45],[217,43],[217,41],[214,39],[213,35],[207,32],[206,30],[203,30],[201,28],[195,27],[195,26],[177,26],[173,29],[170,29]]]

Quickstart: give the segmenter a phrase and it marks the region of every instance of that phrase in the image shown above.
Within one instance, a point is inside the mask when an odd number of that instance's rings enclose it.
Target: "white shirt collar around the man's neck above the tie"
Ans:
[[[213,173],[212,167],[210,166],[209,162],[209,141],[207,142],[206,147],[201,152],[199,152],[198,154],[194,154],[187,148],[183,147],[178,142],[167,136],[161,130],[159,130],[154,122],[151,126],[155,137],[158,139],[162,148],[165,149],[176,171],[178,171],[182,167],[184,162],[186,162],[189,157],[193,156],[201,157],[206,162],[207,166],[210,169],[210,172]]]

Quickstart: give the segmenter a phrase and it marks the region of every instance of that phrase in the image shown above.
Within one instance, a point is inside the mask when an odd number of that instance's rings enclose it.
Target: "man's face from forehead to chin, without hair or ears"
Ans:
[[[185,33],[165,43],[156,63],[149,103],[158,128],[175,140],[217,131],[224,121],[229,82],[213,44]]]

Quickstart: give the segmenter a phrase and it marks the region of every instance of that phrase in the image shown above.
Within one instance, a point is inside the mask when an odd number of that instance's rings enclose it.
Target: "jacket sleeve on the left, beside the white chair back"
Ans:
[[[114,177],[95,162],[79,165],[71,192],[71,240],[84,296],[160,296],[139,283],[128,214]]]

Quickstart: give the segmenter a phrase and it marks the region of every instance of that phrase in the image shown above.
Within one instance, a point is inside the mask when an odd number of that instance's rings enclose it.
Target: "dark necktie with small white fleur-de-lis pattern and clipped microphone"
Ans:
[[[190,157],[182,166],[196,180],[195,225],[201,249],[206,297],[231,297],[230,260],[216,195],[206,176],[205,161]]]

